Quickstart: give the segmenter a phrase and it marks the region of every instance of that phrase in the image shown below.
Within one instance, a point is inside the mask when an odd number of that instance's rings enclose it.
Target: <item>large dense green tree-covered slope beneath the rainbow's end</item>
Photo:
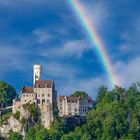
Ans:
[[[140,139],[139,86],[128,90],[101,87],[96,108],[89,112],[87,123],[62,140],[138,140]]]

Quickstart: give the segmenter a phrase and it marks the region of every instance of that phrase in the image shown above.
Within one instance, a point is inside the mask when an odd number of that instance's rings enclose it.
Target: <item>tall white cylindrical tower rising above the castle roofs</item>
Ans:
[[[34,65],[34,85],[35,81],[42,79],[42,65]]]

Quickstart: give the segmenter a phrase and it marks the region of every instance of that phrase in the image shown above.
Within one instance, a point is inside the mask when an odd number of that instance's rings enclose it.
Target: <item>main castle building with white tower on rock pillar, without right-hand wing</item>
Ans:
[[[57,111],[57,91],[53,80],[42,80],[42,66],[34,65],[33,86],[23,86],[21,98],[13,100],[13,113],[26,116],[23,105],[36,103],[40,109],[41,123],[49,128]]]

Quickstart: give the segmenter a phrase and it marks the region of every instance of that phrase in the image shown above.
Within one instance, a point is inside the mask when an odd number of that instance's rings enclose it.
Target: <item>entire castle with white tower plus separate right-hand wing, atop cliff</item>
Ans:
[[[42,80],[42,66],[34,65],[33,86],[23,86],[21,98],[13,100],[13,114],[17,111],[23,117],[28,116],[23,105],[35,103],[40,109],[41,124],[49,128],[54,114],[59,111],[61,117],[86,117],[94,102],[90,97],[59,96],[53,80]],[[27,117],[28,118],[28,117]]]

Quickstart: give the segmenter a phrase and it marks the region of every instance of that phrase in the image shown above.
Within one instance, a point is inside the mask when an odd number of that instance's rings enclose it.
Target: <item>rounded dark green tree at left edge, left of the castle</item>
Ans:
[[[12,105],[12,100],[16,97],[16,90],[6,82],[0,81],[0,106]]]

